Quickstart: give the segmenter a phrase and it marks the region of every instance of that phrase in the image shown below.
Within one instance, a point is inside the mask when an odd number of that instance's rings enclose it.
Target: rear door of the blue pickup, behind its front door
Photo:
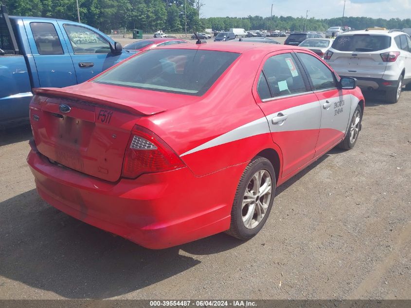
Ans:
[[[40,87],[62,88],[77,83],[75,70],[66,42],[56,20],[25,19]],[[32,70],[35,73],[34,70]]]

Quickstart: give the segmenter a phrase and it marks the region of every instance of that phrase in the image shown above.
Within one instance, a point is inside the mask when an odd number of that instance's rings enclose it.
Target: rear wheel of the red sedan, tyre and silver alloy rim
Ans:
[[[256,156],[246,167],[235,192],[227,234],[247,240],[267,221],[274,201],[275,172],[265,157]]]

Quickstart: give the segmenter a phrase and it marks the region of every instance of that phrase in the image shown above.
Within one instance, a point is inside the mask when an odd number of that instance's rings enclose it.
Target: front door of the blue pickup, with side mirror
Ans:
[[[130,54],[111,54],[108,40],[82,25],[59,21],[73,60],[77,83],[82,83],[127,58]]]

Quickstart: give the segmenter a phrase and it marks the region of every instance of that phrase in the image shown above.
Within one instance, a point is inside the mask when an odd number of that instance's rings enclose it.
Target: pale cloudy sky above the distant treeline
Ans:
[[[202,0],[201,17],[267,17],[273,15],[308,18],[342,17],[344,0]],[[411,0],[346,0],[345,14],[349,17],[411,18]]]

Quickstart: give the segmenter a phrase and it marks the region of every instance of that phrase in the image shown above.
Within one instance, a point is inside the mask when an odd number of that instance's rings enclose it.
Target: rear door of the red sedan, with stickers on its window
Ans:
[[[320,104],[291,51],[265,59],[255,89],[254,96],[267,118],[272,140],[281,148],[282,177],[286,177],[314,157]]]

